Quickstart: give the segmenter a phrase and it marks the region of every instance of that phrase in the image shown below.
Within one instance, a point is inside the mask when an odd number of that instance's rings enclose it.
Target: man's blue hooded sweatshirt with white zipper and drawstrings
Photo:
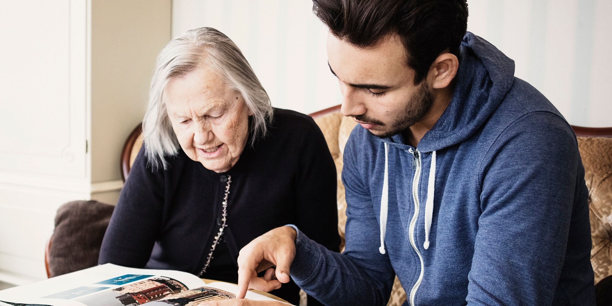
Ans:
[[[291,276],[326,305],[595,305],[576,137],[467,33],[450,105],[417,147],[357,125],[344,151],[346,249],[297,230]]]

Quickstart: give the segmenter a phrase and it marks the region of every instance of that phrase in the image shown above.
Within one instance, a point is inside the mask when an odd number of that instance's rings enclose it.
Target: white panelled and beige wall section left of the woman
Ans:
[[[170,0],[0,0],[0,281],[46,277],[61,204],[113,204]]]

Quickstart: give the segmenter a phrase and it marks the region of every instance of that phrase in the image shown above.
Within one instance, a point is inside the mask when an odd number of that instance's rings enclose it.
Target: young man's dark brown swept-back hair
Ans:
[[[360,48],[398,34],[415,84],[445,50],[459,57],[468,28],[466,0],[313,0],[313,12],[335,37]]]

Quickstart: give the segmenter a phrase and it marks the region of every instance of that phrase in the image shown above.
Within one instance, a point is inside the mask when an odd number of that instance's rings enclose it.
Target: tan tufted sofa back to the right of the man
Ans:
[[[612,275],[612,138],[578,137],[589,188],[591,264],[595,283]]]

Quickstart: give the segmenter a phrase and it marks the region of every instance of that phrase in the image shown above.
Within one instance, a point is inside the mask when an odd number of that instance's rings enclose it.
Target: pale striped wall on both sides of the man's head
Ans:
[[[612,126],[612,1],[468,0],[469,31],[516,61],[516,75],[575,125]],[[310,0],[174,0],[173,36],[201,26],[228,35],[272,105],[312,113],[340,103],[326,28]]]

